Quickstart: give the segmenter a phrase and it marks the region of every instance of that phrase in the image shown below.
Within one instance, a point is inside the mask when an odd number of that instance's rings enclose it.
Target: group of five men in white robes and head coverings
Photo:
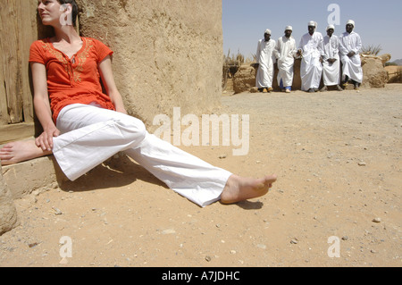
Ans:
[[[348,86],[351,80],[356,90],[363,81],[363,70],[359,51],[362,48],[360,36],[354,31],[355,22],[349,20],[346,32],[337,37],[335,27],[327,27],[327,35],[322,37],[316,31],[317,23],[308,23],[308,33],[304,35],[296,46],[292,37],[293,28],[285,28],[285,35],[277,41],[271,39],[271,30],[266,29],[264,39],[258,42],[256,60],[257,76],[256,87],[264,92],[271,92],[274,76],[274,63],[278,64],[278,85],[282,91],[290,93],[293,84],[295,58],[301,57],[300,76],[301,89],[306,92],[317,92],[321,80],[324,87],[335,86],[339,91]],[[340,71],[340,62],[342,71]],[[342,87],[339,86],[341,84]]]

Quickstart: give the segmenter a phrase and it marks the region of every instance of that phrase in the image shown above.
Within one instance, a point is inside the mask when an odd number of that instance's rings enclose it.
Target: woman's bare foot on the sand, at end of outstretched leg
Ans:
[[[272,183],[277,180],[276,175],[265,176],[262,179],[252,179],[230,176],[222,191],[221,203],[234,204],[247,199],[262,197],[272,188]]]

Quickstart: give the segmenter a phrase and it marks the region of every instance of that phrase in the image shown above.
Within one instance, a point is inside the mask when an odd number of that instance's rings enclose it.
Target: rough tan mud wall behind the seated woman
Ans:
[[[204,113],[222,95],[222,1],[77,1],[80,32],[113,51],[116,84],[130,114]]]

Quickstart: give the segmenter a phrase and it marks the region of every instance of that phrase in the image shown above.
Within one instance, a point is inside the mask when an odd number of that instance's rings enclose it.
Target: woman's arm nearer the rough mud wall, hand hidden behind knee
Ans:
[[[107,55],[105,59],[101,63],[99,63],[99,71],[106,89],[106,94],[112,100],[116,111],[120,113],[127,113],[121,98],[121,94],[119,90],[117,90],[116,84],[114,82],[112,60],[110,55]]]

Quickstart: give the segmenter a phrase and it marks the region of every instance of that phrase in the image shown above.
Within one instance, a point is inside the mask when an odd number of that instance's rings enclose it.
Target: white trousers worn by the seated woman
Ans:
[[[170,189],[204,207],[221,198],[232,173],[149,134],[143,122],[95,105],[74,104],[57,118],[54,157],[70,180],[124,152]]]

